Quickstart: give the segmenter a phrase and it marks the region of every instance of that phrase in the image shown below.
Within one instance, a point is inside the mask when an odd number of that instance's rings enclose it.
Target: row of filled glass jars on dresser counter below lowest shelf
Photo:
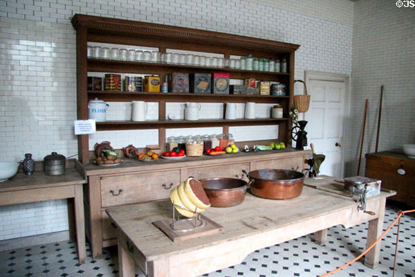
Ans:
[[[205,134],[203,136],[169,136],[167,138],[166,149],[172,151],[175,147],[180,150],[186,150],[186,144],[202,144],[203,152],[206,152],[208,148],[216,148],[219,146],[221,150],[224,150],[228,145],[234,143],[232,134]]]

